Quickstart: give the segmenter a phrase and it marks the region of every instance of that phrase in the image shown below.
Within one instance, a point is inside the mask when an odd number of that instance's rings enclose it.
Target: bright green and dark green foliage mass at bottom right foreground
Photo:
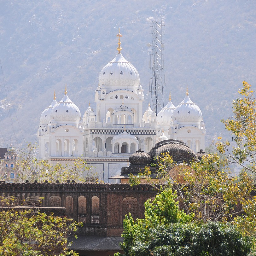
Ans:
[[[176,193],[166,189],[150,203],[145,202],[145,219],[124,220],[121,248],[115,256],[246,256],[252,241],[234,225],[208,221],[192,222],[178,209]]]

